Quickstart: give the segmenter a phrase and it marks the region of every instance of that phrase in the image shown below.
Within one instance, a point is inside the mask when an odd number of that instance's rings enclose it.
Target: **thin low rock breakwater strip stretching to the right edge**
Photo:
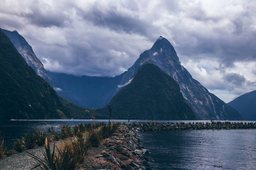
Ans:
[[[159,131],[159,130],[197,130],[197,129],[256,129],[256,122],[170,122],[162,124],[157,122],[139,123],[128,125],[134,131]]]

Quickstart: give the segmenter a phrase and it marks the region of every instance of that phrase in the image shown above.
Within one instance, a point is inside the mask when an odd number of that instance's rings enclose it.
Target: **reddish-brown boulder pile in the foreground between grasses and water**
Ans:
[[[92,169],[151,169],[144,156],[138,135],[127,125],[120,125],[112,137],[105,139],[101,154],[95,156]]]

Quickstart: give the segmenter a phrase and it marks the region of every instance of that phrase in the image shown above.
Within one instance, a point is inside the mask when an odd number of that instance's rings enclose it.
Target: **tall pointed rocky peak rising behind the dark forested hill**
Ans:
[[[240,114],[211,94],[197,80],[193,79],[188,70],[180,65],[179,57],[171,43],[160,36],[150,50],[139,56],[133,66],[123,73],[121,84],[126,84],[138,68],[145,63],[158,66],[166,74],[176,80],[188,105],[201,120],[241,120]]]

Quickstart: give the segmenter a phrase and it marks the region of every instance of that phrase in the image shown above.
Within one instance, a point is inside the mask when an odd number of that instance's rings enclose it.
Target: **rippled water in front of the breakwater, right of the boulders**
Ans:
[[[256,130],[138,133],[153,169],[255,169]]]

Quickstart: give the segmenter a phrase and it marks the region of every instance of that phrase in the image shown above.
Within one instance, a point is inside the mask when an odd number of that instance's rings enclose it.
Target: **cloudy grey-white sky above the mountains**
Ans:
[[[256,1],[0,0],[45,69],[115,76],[159,36],[194,79],[225,102],[256,90]]]

